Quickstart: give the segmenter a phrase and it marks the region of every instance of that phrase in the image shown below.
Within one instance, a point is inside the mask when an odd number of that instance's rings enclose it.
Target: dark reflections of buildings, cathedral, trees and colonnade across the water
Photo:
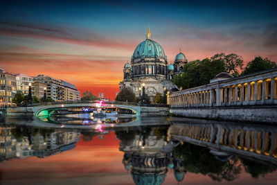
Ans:
[[[152,125],[154,120],[156,125]],[[114,132],[120,140],[122,164],[135,184],[163,184],[168,172],[174,173],[175,182],[186,182],[188,173],[224,182],[239,179],[244,171],[256,179],[276,171],[274,125],[201,123],[184,118],[168,120],[171,125],[157,125],[157,118],[141,121],[132,127],[93,132],[3,125],[0,160],[59,155],[75,148],[80,137],[93,142],[96,136],[105,139],[105,135]]]

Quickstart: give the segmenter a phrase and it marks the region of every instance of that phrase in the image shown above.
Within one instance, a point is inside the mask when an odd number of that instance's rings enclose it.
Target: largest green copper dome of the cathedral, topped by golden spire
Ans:
[[[150,30],[146,34],[145,41],[141,42],[134,50],[132,59],[136,58],[163,58],[166,60],[166,54],[163,51],[161,45],[152,40]]]

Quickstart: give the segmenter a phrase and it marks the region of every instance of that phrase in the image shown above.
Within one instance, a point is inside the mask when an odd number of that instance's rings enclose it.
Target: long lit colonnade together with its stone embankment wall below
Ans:
[[[170,113],[192,118],[277,123],[277,68],[168,95]]]

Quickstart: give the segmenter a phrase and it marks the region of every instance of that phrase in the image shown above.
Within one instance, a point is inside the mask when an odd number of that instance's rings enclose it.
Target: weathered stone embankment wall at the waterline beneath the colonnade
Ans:
[[[170,109],[170,114],[221,121],[277,123],[277,106],[174,108]]]

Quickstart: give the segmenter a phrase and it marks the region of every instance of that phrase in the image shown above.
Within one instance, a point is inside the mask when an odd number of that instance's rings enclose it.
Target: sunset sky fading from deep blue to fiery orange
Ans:
[[[236,53],[277,61],[277,1],[1,1],[0,68],[44,74],[113,100],[134,49],[152,39],[168,62]]]

